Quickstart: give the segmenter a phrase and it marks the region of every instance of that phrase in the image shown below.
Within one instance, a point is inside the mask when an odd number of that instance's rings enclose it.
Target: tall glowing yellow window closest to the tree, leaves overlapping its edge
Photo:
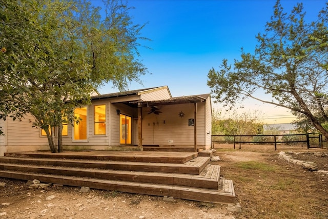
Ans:
[[[81,118],[74,124],[74,140],[87,140],[87,107],[76,108],[74,116]]]

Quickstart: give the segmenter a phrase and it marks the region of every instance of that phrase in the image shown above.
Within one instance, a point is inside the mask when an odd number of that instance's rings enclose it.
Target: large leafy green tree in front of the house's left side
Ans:
[[[120,1],[0,0],[0,119],[35,117],[52,152],[49,127],[78,122],[73,110],[111,81],[125,89],[147,69],[135,59],[142,27]],[[58,136],[61,130],[58,130]]]

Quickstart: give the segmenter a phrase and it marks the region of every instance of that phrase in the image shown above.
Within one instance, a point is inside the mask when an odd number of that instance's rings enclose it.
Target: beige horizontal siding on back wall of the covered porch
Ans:
[[[142,114],[143,145],[193,146],[194,127],[189,126],[189,118],[194,118],[194,104],[180,104],[158,107],[159,115],[148,114],[150,108],[144,108]],[[204,145],[205,104],[197,105],[197,145]],[[183,117],[179,112],[185,113]],[[169,143],[172,140],[173,143]]]

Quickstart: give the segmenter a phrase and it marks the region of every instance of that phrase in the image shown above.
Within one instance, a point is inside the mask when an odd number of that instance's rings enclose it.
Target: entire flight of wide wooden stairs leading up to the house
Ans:
[[[0,177],[233,204],[231,180],[197,152],[19,152],[0,157]]]

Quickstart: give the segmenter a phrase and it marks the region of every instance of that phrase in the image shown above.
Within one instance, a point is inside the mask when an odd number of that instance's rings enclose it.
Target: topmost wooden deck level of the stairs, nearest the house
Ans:
[[[198,152],[157,152],[152,151],[49,151],[5,153],[10,157],[33,157],[55,159],[79,159],[120,162],[151,162],[184,164],[198,156]]]

